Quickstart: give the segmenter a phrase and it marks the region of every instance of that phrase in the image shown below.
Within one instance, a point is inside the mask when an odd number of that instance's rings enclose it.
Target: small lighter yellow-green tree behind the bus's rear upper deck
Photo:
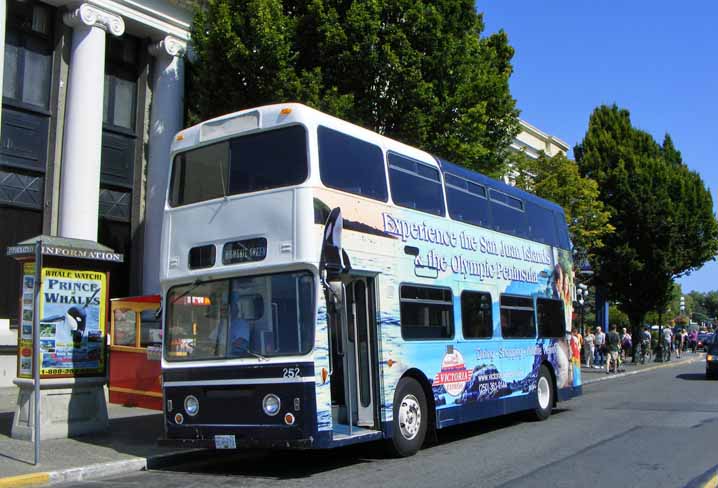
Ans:
[[[563,207],[574,263],[593,261],[595,251],[604,247],[606,237],[613,232],[610,215],[598,199],[598,184],[581,176],[575,161],[560,153],[549,157],[542,152],[538,159],[517,153],[511,157],[511,166],[517,187]]]

